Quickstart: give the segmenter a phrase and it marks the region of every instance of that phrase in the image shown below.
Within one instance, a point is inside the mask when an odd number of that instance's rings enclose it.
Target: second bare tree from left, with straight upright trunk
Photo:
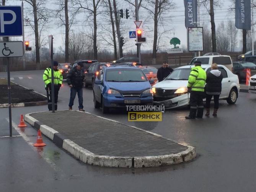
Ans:
[[[59,0],[58,5],[60,8],[57,10],[57,16],[61,21],[60,26],[65,26],[65,62],[69,62],[69,31],[72,24],[74,23],[78,9],[73,7],[72,0]]]

